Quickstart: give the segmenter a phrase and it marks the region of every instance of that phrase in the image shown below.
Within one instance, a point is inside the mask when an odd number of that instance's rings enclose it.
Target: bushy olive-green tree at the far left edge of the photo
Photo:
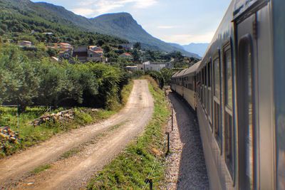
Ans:
[[[38,95],[38,75],[35,63],[29,62],[21,54],[19,48],[8,46],[1,53],[1,100],[12,104],[20,105],[20,111],[26,110],[31,105],[33,98]]]

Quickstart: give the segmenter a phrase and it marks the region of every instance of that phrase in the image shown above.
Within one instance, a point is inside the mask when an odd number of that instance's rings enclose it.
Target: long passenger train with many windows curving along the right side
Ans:
[[[171,78],[196,111],[210,189],[285,189],[285,1],[234,0]]]

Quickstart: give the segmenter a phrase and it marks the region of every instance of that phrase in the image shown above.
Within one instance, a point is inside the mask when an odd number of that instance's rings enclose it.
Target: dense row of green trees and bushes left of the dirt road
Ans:
[[[0,103],[20,105],[84,105],[113,109],[128,83],[120,68],[100,63],[56,63],[29,60],[16,46],[0,51]]]

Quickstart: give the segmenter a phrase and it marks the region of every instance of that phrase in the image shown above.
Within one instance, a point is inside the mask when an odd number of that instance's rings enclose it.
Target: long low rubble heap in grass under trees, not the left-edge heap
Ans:
[[[33,120],[33,122],[31,122],[31,124],[36,127],[38,125],[41,125],[45,122],[49,122],[49,121],[63,121],[63,120],[73,120],[74,119],[74,115],[75,112],[73,110],[65,110],[62,112],[58,112],[58,113],[52,113],[52,114],[46,114],[43,115],[41,117],[39,117],[36,120]]]

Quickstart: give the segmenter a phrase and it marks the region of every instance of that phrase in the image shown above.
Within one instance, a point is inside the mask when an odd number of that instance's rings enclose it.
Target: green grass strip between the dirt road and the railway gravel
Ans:
[[[160,186],[165,168],[164,154],[159,150],[164,145],[165,124],[170,110],[162,90],[154,80],[149,80],[155,110],[145,132],[94,176],[87,189],[142,189],[147,177],[153,179],[154,189]]]

